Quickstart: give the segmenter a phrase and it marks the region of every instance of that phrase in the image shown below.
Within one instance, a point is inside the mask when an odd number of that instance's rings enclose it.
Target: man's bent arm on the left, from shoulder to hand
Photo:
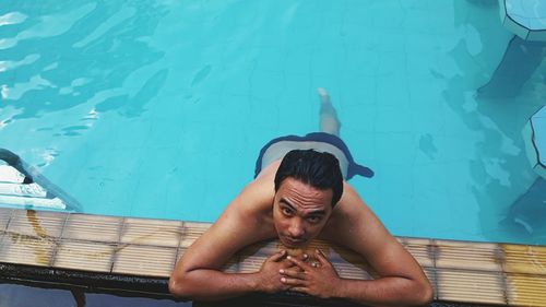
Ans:
[[[256,273],[224,273],[223,264],[239,249],[276,236],[271,206],[274,197],[274,162],[262,170],[227,206],[218,220],[186,251],[176,264],[169,291],[188,299],[214,300],[252,292],[285,291],[280,269],[293,267],[281,250]]]

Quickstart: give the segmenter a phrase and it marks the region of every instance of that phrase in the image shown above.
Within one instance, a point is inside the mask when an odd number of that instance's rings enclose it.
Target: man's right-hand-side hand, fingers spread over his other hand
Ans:
[[[287,259],[296,267],[281,269],[280,273],[283,275],[281,281],[290,291],[321,298],[332,297],[335,291],[334,285],[339,284],[340,276],[322,251],[317,249],[316,256],[319,260],[318,263],[306,263],[294,257],[288,257]]]

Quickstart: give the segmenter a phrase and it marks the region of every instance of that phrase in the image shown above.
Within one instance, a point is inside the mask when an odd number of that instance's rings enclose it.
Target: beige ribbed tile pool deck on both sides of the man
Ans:
[[[167,293],[176,260],[210,224],[0,209],[0,276]],[[439,302],[546,306],[546,247],[399,238],[423,265]],[[278,247],[250,246],[225,267],[252,272]],[[313,243],[339,274],[369,279],[354,252]],[[88,284],[86,284],[88,283]]]

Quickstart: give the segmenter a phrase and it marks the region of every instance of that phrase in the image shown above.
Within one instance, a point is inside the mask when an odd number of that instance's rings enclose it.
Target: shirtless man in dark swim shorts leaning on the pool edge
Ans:
[[[214,300],[293,291],[373,306],[431,300],[432,288],[419,264],[343,180],[373,173],[353,161],[337,138],[340,123],[328,94],[319,88],[319,96],[321,132],[283,137],[264,146],[256,179],[178,261],[169,281],[175,296]],[[278,239],[288,250],[305,249],[313,238],[358,252],[379,278],[342,279],[320,250],[313,251],[313,262],[283,249],[266,259],[259,272],[221,271],[248,245]]]

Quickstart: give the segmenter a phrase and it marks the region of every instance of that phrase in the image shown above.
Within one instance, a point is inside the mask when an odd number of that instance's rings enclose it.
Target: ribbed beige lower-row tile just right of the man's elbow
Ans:
[[[436,275],[440,300],[506,305],[502,273],[438,269]]]

